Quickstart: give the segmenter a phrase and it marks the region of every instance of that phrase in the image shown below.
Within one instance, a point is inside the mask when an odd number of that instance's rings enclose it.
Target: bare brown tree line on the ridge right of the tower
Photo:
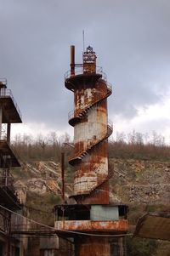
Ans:
[[[165,138],[155,131],[141,134],[133,130],[132,133],[116,133],[116,139],[109,143],[109,156],[115,158],[135,158],[143,160],[170,160],[170,145]]]

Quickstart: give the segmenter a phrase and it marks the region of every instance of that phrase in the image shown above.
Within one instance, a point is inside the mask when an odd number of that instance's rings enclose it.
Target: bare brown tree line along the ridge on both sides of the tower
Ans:
[[[60,162],[61,151],[65,156],[71,156],[73,149],[71,136],[56,132],[48,135],[37,135],[33,138],[29,134],[15,135],[12,145],[22,161],[53,160]],[[170,159],[170,146],[166,144],[161,134],[153,132],[151,136],[133,131],[129,134],[116,133],[116,138],[109,139],[109,157],[135,158],[145,160],[168,161]]]

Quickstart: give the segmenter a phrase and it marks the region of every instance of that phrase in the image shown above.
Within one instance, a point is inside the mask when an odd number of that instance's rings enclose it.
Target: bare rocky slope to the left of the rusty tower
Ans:
[[[22,163],[21,168],[12,171],[14,176],[14,187],[18,195],[34,193],[40,196],[61,194],[61,170],[57,162],[27,162]],[[71,174],[65,170],[65,197],[71,193]],[[56,202],[57,203],[57,202]]]

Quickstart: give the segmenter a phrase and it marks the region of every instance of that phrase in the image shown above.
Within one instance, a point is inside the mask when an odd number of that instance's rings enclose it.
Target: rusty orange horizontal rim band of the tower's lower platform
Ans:
[[[115,221],[92,221],[92,220],[59,220],[55,222],[56,230],[72,231],[104,231],[104,232],[127,232],[127,219]]]

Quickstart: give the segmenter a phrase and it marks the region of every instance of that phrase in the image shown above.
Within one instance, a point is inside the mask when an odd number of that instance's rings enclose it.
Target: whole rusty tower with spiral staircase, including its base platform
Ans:
[[[113,170],[108,168],[112,124],[107,98],[112,89],[102,68],[96,66],[96,58],[89,46],[82,54],[82,64],[75,64],[75,47],[71,46],[71,70],[65,74],[65,88],[74,93],[74,111],[69,113],[74,156],[69,163],[75,168],[71,197],[77,203],[55,207],[55,227],[62,236],[73,238],[76,256],[125,255],[120,239],[127,232],[127,206],[109,202]]]

